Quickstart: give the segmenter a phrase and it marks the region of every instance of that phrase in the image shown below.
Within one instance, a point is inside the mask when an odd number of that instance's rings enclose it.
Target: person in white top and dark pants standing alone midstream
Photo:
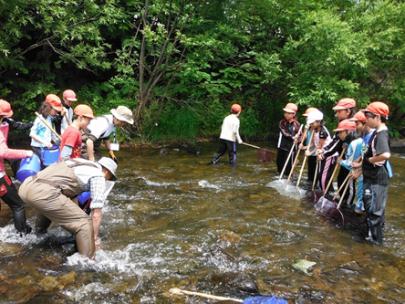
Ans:
[[[219,159],[228,150],[229,164],[236,165],[236,142],[243,143],[239,135],[239,115],[242,107],[237,103],[231,107],[231,114],[224,118],[219,136],[220,144],[218,152],[214,155],[211,163],[213,165],[219,162]]]

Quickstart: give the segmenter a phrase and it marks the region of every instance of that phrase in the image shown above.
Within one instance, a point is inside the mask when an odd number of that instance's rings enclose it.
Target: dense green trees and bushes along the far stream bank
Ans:
[[[405,3],[394,0],[0,0],[0,96],[19,118],[49,92],[124,104],[144,140],[275,130],[287,101],[332,122],[340,97],[405,113]]]

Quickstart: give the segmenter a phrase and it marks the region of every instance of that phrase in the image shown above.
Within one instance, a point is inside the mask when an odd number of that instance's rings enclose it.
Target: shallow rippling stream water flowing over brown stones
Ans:
[[[393,158],[378,247],[361,241],[356,224],[323,218],[294,187],[277,185],[275,165],[255,151],[240,147],[237,168],[226,158],[207,165],[215,148],[121,151],[95,261],[61,245],[60,228],[19,237],[3,205],[0,303],[207,303],[171,296],[172,287],[290,303],[405,302],[403,158]],[[300,259],[316,262],[309,275],[292,267]]]

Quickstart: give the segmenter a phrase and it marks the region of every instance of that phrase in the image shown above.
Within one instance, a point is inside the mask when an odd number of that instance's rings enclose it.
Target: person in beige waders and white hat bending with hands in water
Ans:
[[[51,221],[75,235],[80,254],[93,258],[101,245],[99,230],[106,199],[106,180],[116,180],[117,164],[107,157],[98,162],[81,158],[63,161],[27,178],[18,191],[25,203],[38,212],[36,232],[45,233]],[[72,201],[91,192],[91,215]]]

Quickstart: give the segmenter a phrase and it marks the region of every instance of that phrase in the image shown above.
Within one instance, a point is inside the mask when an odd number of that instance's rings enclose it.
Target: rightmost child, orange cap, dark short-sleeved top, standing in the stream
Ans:
[[[356,164],[356,166],[361,166],[363,171],[363,200],[368,226],[366,240],[382,244],[388,181],[392,176],[391,165],[388,161],[391,157],[391,150],[386,125],[389,107],[383,102],[375,101],[367,106],[364,115],[367,126],[376,129],[370,138],[363,162]]]

